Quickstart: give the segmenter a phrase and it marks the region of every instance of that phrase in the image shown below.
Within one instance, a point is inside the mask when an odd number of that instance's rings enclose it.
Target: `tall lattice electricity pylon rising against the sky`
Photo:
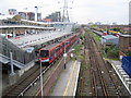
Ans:
[[[71,1],[73,3],[73,1]],[[60,3],[60,1],[58,2]],[[62,12],[62,22],[70,22],[70,19],[69,19],[69,9],[72,9],[68,5],[68,0],[64,0],[63,1],[63,7],[60,8],[60,9],[63,9],[63,12]]]

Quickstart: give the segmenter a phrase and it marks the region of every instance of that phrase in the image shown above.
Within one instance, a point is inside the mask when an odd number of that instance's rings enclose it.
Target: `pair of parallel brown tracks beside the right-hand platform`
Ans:
[[[115,96],[118,98],[121,98],[122,96],[128,96],[127,91],[120,90],[120,79],[118,84],[118,81],[116,82],[116,79],[118,79],[116,77],[117,75],[115,75],[115,73],[112,74],[114,71],[111,70],[111,68],[109,68],[109,63],[105,63],[99,51],[99,46],[90,35],[90,33],[85,35],[85,46],[86,49],[88,49],[88,57],[91,63],[92,96]]]

